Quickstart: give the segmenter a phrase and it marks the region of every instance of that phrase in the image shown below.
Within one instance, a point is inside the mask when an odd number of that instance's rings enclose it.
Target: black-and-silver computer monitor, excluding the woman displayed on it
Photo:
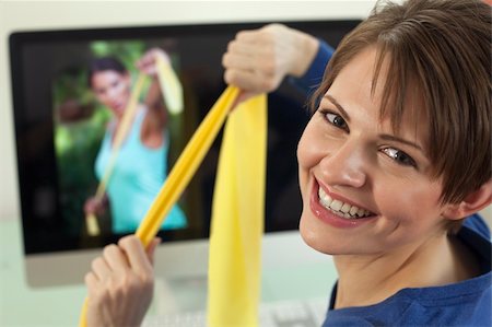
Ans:
[[[283,22],[336,46],[360,21]],[[13,117],[26,277],[32,287],[82,283],[101,248],[126,233],[114,232],[112,211],[91,236],[83,206],[98,185],[94,165],[110,114],[87,86],[87,65],[115,57],[128,67],[147,49],[171,58],[184,90],[184,110],[168,115],[168,170],[198,124],[225,89],[221,57],[236,32],[265,25],[206,24],[121,28],[27,31],[10,36]],[[302,209],[295,150],[309,118],[305,95],[284,82],[268,95],[265,264],[283,260],[296,236]],[[208,235],[221,137],[177,203],[186,226],[163,229],[156,275],[206,276]],[[136,162],[138,157],[136,157]],[[286,252],[288,253],[288,252]],[[309,252],[300,256],[306,260]],[[302,258],[301,258],[302,257]],[[313,257],[316,259],[315,257]],[[292,257],[289,257],[292,261]],[[263,265],[265,266],[265,265]],[[56,269],[54,269],[56,267]]]

